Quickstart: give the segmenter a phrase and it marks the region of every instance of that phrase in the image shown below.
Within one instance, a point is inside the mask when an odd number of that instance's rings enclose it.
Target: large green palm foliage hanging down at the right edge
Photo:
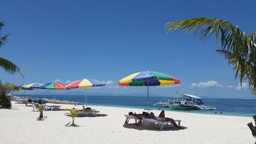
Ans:
[[[199,36],[199,40],[203,40],[203,44],[207,39],[215,34],[216,44],[220,35],[221,49],[217,50],[223,54],[233,64],[236,69],[236,77],[239,74],[240,84],[248,78],[248,86],[252,94],[256,94],[256,32],[246,35],[237,26],[225,20],[217,20],[215,18],[193,18],[175,22],[166,23],[167,34],[175,29],[181,31],[186,30],[185,34],[195,32],[195,37]],[[215,44],[215,47],[216,47]]]

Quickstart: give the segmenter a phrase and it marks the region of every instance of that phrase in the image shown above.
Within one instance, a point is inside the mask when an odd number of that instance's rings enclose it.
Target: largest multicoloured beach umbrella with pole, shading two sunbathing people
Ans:
[[[180,80],[175,77],[153,71],[135,73],[130,76],[126,76],[118,82],[118,85],[122,86],[159,86],[173,84],[180,84]]]

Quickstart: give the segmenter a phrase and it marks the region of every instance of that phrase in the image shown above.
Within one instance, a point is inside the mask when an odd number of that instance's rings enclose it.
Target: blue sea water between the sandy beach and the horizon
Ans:
[[[24,96],[17,94],[15,96]],[[35,98],[36,95],[25,95],[29,98]],[[37,98],[53,99],[53,95],[37,95]],[[85,102],[85,96],[61,96],[56,95],[55,99]],[[158,110],[159,107],[151,106],[164,98],[149,98],[149,108]],[[209,106],[217,108],[216,110],[176,110],[177,112],[208,114],[208,115],[225,115],[225,116],[245,116],[252,117],[256,115],[256,101],[254,100],[204,100]],[[104,106],[104,107],[117,107],[117,108],[137,108],[141,109],[148,107],[147,97],[114,97],[114,96],[87,96],[87,105],[90,106]],[[82,106],[81,106],[82,108]],[[161,110],[172,111],[168,108],[161,108]],[[217,112],[217,114],[215,114]],[[222,112],[222,114],[220,114]],[[128,112],[127,112],[128,113]],[[140,113],[140,112],[137,112]]]

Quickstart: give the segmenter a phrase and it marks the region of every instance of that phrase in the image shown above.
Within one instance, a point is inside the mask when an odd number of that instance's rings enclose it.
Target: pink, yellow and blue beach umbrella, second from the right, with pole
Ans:
[[[86,100],[86,87],[95,87],[95,86],[104,86],[105,83],[102,83],[97,80],[93,79],[81,79],[78,81],[75,81],[71,84],[68,84],[65,86],[65,89],[76,89],[76,88],[83,88],[85,87],[85,102],[86,102],[86,108],[87,108],[87,100]]]

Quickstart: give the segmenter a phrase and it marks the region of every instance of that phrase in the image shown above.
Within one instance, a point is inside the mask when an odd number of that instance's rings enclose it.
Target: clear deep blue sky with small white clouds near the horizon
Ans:
[[[0,56],[16,64],[25,78],[0,69],[0,79],[20,85],[87,78],[106,83],[87,88],[88,93],[147,93],[145,86],[124,87],[118,81],[149,70],[181,80],[179,85],[151,86],[149,93],[173,96],[184,83],[197,96],[252,98],[248,81],[242,90],[234,66],[215,51],[215,36],[202,45],[194,34],[166,34],[164,24],[210,17],[230,21],[249,34],[255,31],[255,10],[250,0],[1,1],[2,36],[11,35]],[[220,47],[219,42],[216,50]]]

